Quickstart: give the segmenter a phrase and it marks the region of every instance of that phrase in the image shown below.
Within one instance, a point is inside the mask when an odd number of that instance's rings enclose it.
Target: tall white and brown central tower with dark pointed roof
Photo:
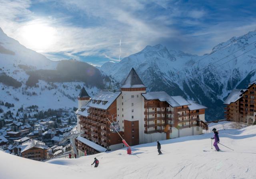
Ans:
[[[120,89],[124,138],[131,146],[141,144],[144,136],[144,98],[141,94],[146,92],[146,87],[134,68],[131,69]]]

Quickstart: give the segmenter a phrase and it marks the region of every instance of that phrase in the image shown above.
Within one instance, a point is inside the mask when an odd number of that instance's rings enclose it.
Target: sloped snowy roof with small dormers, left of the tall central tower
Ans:
[[[119,90],[101,90],[96,94],[92,100],[87,104],[89,107],[108,109],[108,107],[118,98],[121,94]]]

